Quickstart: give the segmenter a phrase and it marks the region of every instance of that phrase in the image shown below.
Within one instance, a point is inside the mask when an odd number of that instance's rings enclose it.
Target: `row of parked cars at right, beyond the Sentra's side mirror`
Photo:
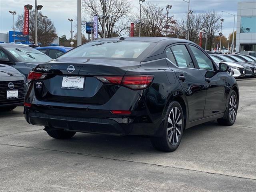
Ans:
[[[243,54],[218,54],[208,52],[216,62],[225,62],[231,68],[231,75],[234,78],[245,78],[256,76],[256,57]]]

